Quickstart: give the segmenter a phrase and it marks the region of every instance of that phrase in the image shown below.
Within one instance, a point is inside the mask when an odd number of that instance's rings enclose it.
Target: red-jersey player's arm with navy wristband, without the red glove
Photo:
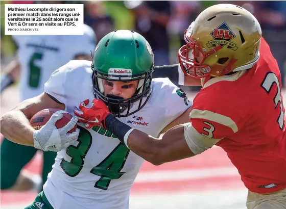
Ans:
[[[160,139],[131,128],[112,114],[106,116],[103,124],[130,150],[154,165],[189,158],[213,145],[208,145],[204,139],[201,140],[201,135],[194,130],[191,123],[171,128]],[[194,149],[190,148],[192,146]]]

